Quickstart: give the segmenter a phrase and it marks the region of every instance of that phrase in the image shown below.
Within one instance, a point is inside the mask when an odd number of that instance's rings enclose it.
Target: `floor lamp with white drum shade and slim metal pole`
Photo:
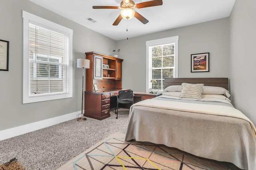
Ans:
[[[77,59],[77,68],[82,68],[83,72],[83,81],[82,81],[82,109],[81,117],[77,118],[77,121],[85,121],[86,118],[83,117],[83,103],[84,103],[84,68],[90,68],[90,60],[88,59]],[[78,114],[79,115],[79,114]]]

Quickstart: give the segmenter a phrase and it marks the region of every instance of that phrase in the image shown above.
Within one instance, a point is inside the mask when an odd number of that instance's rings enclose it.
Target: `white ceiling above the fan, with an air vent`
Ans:
[[[120,9],[92,9],[92,6],[120,6],[122,0],[30,0],[52,12],[84,25],[114,40],[136,37],[230,16],[235,0],[163,0],[162,6],[136,9],[148,23],[136,18],[112,24]],[[133,0],[135,4],[149,0]],[[96,20],[96,23],[87,18]],[[128,28],[128,31],[126,31]]]

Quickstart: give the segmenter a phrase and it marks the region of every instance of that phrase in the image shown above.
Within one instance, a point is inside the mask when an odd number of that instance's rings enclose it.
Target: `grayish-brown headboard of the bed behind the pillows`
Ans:
[[[228,78],[165,78],[164,88],[182,83],[202,83],[204,86],[219,86],[228,90]]]

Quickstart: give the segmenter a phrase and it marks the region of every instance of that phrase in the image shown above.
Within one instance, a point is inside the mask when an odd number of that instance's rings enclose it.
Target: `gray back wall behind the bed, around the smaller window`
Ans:
[[[122,87],[146,91],[146,41],[179,36],[178,77],[229,77],[229,18],[120,40]],[[191,73],[191,54],[210,53],[210,72]]]

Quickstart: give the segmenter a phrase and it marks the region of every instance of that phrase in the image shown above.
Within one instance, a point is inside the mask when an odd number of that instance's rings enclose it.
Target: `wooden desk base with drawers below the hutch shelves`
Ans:
[[[116,101],[116,96],[120,90],[130,90],[130,89],[113,89],[105,88],[100,89],[98,92],[86,91],[84,95],[84,116],[91,117],[98,120],[103,120],[110,117],[109,109],[114,103],[111,102],[111,97],[114,97]]]

